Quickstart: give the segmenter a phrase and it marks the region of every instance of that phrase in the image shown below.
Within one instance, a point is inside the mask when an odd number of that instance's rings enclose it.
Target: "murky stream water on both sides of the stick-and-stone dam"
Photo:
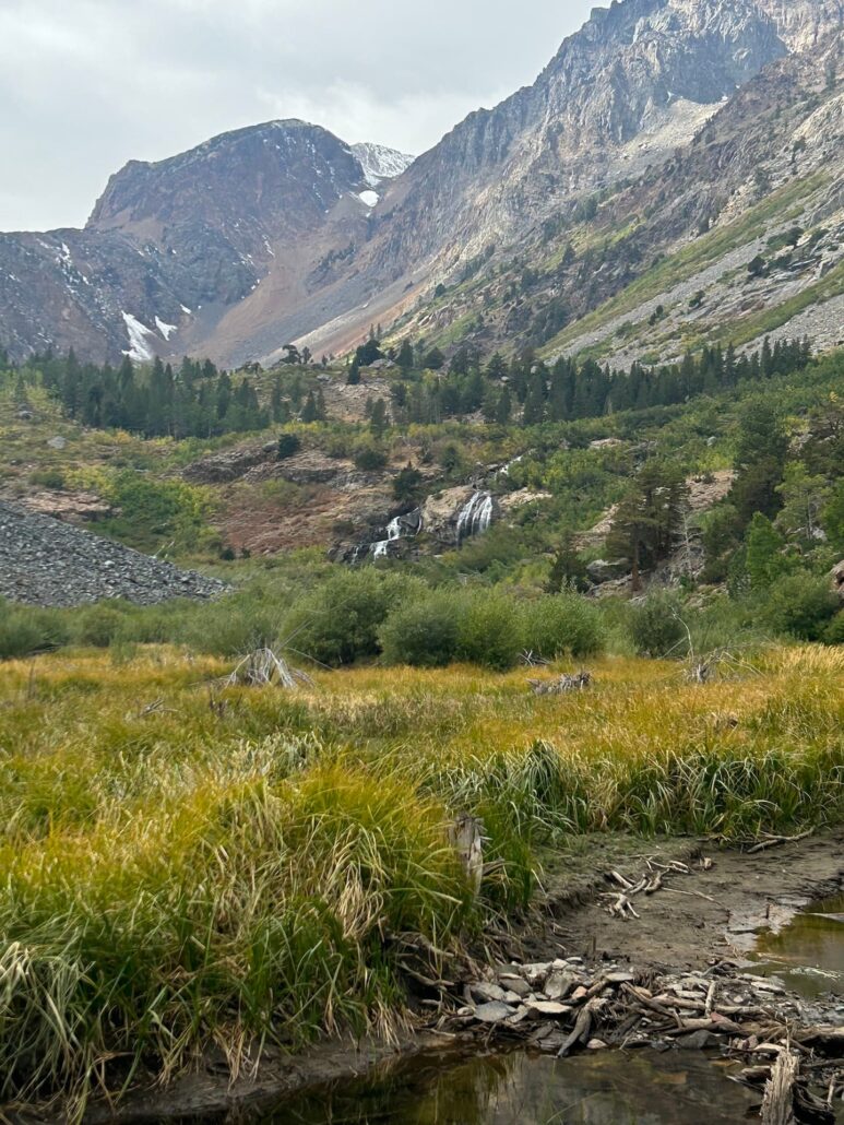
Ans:
[[[751,953],[819,1018],[844,1024],[844,896],[815,902]],[[748,966],[749,968],[749,966]],[[726,1125],[755,1117],[740,1069],[693,1051],[586,1052],[554,1059],[520,1050],[417,1056],[365,1078],[287,1098],[260,1125]],[[838,1120],[844,1122],[839,1110]]]

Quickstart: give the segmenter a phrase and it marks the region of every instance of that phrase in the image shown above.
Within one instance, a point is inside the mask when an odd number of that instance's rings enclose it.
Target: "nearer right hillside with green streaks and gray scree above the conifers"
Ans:
[[[619,367],[686,346],[844,331],[841,36],[788,55],[637,177],[454,276],[394,330],[430,343],[589,352]],[[623,150],[649,159],[652,134]]]

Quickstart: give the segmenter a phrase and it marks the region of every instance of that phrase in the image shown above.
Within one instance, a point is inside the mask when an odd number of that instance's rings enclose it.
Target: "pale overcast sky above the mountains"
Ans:
[[[419,154],[595,0],[0,0],[0,231],[84,223],[127,160],[277,117]]]

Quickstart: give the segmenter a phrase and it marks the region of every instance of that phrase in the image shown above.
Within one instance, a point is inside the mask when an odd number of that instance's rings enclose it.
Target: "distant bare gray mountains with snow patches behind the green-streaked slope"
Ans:
[[[844,0],[613,0],[537,79],[410,158],[277,122],[113,177],[84,232],[0,236],[0,340],[93,358],[315,353],[495,245],[654,174]],[[752,119],[745,128],[753,130]]]

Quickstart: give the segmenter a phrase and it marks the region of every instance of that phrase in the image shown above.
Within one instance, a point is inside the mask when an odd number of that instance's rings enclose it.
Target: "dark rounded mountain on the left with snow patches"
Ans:
[[[288,120],[132,161],[84,231],[0,234],[0,340],[16,358],[53,345],[99,361],[280,348],[271,310],[366,236],[374,184],[410,160]]]

